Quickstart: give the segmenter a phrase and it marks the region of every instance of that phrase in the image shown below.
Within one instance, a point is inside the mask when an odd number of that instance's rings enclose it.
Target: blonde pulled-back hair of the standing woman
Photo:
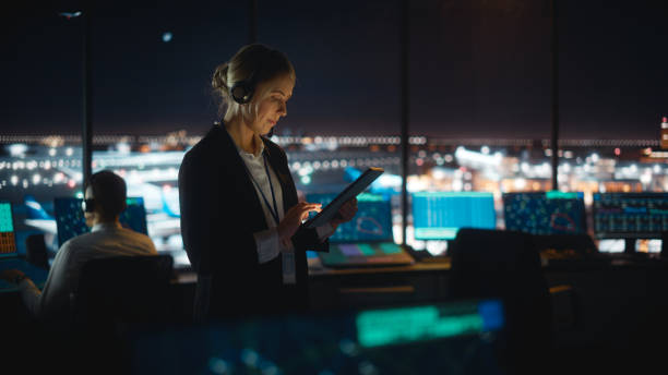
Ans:
[[[229,92],[235,84],[251,81],[255,88],[259,84],[284,74],[295,82],[295,68],[285,53],[260,44],[241,47],[228,62],[216,66],[211,80],[214,94],[222,98],[219,111],[225,113],[224,120],[228,121],[241,110]],[[265,94],[255,90],[251,102],[263,98]],[[249,111],[252,111],[252,108],[249,108]]]

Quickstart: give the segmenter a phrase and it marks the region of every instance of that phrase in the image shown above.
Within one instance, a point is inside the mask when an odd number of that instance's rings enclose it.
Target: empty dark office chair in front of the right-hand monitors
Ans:
[[[505,329],[497,346],[509,373],[538,371],[552,344],[552,311],[530,234],[461,229],[451,254],[451,299],[500,299]],[[545,364],[545,363],[544,363]]]

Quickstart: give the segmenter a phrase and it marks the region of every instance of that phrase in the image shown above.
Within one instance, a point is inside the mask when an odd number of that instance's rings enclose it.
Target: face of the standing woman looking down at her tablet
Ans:
[[[266,134],[276,125],[278,119],[287,116],[287,101],[293,96],[295,83],[289,75],[279,75],[271,81],[260,83],[257,93],[266,93],[258,104],[258,117],[250,122],[257,134]]]

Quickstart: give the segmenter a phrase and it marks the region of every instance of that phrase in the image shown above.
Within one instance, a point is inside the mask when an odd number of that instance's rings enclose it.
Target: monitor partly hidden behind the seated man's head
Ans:
[[[91,228],[86,226],[86,219],[81,209],[82,201],[82,198],[76,197],[57,197],[53,199],[58,246],[62,246],[63,243],[73,237],[91,231]],[[144,198],[128,197],[126,203],[127,207],[119,217],[121,226],[135,232],[147,234]]]

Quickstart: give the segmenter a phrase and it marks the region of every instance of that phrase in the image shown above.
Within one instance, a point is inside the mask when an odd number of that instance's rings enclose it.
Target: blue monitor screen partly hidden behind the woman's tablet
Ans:
[[[308,194],[307,202],[322,203],[323,207],[336,194]],[[394,241],[392,205],[383,195],[361,193],[357,196],[357,215],[336,228],[330,242]]]

